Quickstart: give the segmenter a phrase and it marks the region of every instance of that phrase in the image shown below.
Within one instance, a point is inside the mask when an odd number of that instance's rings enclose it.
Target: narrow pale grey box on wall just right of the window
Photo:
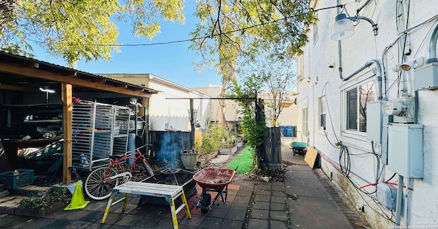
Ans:
[[[367,103],[367,139],[368,141],[381,143],[382,136],[382,103],[376,101]]]

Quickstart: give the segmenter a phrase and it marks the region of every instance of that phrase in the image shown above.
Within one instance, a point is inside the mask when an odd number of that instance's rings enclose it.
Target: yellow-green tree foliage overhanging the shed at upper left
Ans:
[[[30,40],[70,66],[111,58],[118,27],[129,21],[135,36],[151,40],[159,19],[183,25],[184,0],[0,0],[0,49],[31,55]],[[27,52],[29,51],[29,53]]]

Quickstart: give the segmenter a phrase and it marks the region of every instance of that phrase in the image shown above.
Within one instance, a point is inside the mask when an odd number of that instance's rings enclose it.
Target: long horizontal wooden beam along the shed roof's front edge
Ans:
[[[65,77],[55,72],[41,70],[40,68],[25,68],[17,64],[11,64],[9,62],[0,62],[0,72],[7,72],[14,75],[34,77],[37,79],[44,79],[49,81],[57,81],[60,83],[67,83],[75,86],[88,87],[96,90],[116,92],[120,94],[131,95],[131,96],[139,96],[139,97],[149,96],[144,92],[129,90],[125,87],[117,87],[106,83],[96,83],[96,82],[92,82],[92,80],[80,79],[78,77]]]

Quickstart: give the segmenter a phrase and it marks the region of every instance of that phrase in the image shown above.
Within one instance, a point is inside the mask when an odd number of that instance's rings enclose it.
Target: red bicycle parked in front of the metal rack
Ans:
[[[129,167],[129,171],[126,171],[129,161],[132,161],[132,164]],[[98,167],[87,175],[83,183],[86,195],[93,200],[109,198],[114,187],[118,186],[119,183],[131,180],[133,172],[138,170],[135,168],[138,162],[149,172],[149,175],[154,175],[151,165],[149,165],[140,150],[132,153],[127,152],[124,155],[110,156],[110,166]]]

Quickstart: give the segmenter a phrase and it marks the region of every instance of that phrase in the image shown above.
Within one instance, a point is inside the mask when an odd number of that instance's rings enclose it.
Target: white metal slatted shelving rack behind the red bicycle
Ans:
[[[91,171],[108,165],[113,154],[125,154],[130,118],[129,107],[73,103],[73,167]]]

